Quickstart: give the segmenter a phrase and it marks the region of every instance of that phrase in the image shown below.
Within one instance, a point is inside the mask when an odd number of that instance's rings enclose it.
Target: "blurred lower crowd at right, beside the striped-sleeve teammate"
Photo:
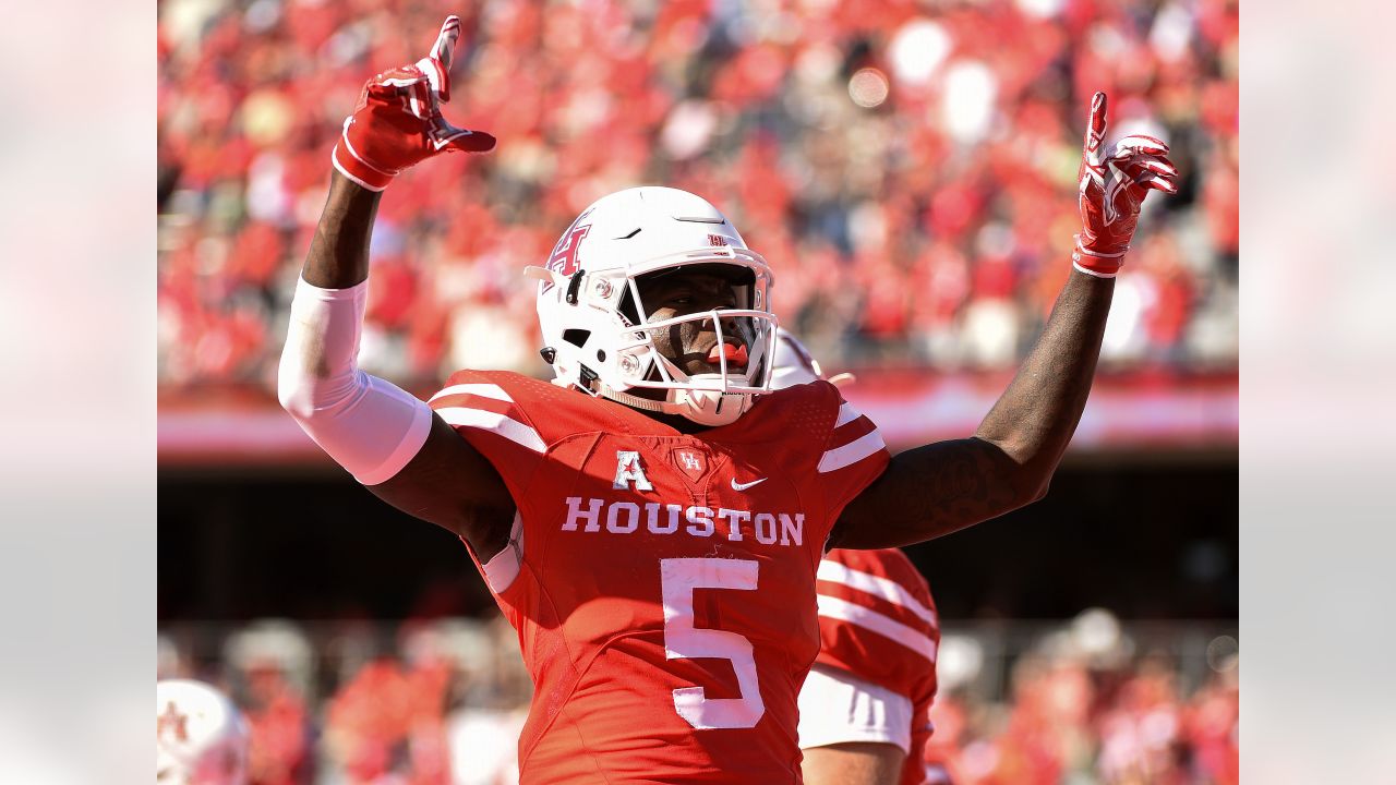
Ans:
[[[927,757],[956,785],[1240,782],[1234,637],[1129,633],[1100,609],[1018,637],[998,661],[984,636],[945,638]]]

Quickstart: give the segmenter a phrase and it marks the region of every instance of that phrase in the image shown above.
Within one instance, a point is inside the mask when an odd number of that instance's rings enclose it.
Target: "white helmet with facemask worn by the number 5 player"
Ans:
[[[737,307],[651,321],[637,279],[694,265],[722,265],[706,270],[732,275]],[[557,384],[706,426],[736,420],[754,395],[771,391],[779,324],[771,267],[708,200],[658,186],[602,197],[568,226],[546,267],[525,272],[539,279],[542,353]],[[741,344],[745,367],[715,349],[718,373],[687,374],[655,348],[652,331],[708,320],[719,344]],[[653,401],[631,388],[667,392]]]

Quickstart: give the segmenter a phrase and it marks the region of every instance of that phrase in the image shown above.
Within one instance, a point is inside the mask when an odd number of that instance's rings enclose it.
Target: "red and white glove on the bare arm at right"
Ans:
[[[1090,101],[1090,124],[1081,156],[1081,222],[1076,270],[1097,278],[1114,278],[1124,264],[1129,239],[1139,221],[1139,207],[1149,190],[1178,193],[1178,169],[1168,161],[1168,145],[1153,137],[1125,137],[1101,154],[1106,142],[1106,94]]]

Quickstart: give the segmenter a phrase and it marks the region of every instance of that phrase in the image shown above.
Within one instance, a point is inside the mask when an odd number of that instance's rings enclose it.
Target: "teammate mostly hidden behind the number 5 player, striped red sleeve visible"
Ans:
[[[804,344],[778,331],[772,386],[821,379]],[[895,548],[831,550],[817,577],[819,656],[800,689],[805,785],[949,785],[926,763],[941,641],[931,587]]]

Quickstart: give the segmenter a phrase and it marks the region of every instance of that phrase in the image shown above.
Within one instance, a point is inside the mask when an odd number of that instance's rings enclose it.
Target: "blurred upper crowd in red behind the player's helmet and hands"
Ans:
[[[1167,140],[1108,366],[1235,366],[1235,0],[161,0],[159,367],[269,386],[329,149],[364,80],[465,34],[456,124],[387,191],[362,365],[544,370],[537,264],[593,198],[718,204],[826,366],[1012,366],[1069,271],[1093,91]]]

